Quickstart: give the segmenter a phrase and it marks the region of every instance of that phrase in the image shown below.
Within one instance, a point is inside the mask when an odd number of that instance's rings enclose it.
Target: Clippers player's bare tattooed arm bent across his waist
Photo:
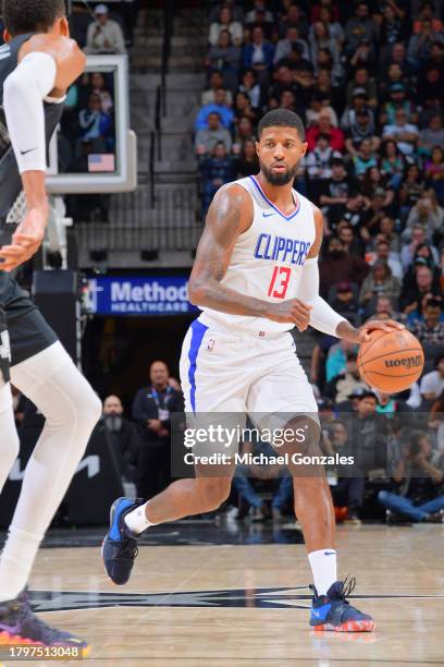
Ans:
[[[240,185],[222,187],[208,211],[203,233],[188,283],[188,295],[197,306],[213,308],[232,315],[268,317],[275,322],[291,322],[298,328],[308,326],[309,308],[294,299],[275,304],[246,296],[222,284],[234,245],[251,225],[251,197]]]

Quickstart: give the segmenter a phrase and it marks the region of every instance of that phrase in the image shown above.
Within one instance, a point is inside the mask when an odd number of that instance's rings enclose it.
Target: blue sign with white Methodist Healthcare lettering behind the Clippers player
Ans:
[[[86,307],[95,315],[183,315],[196,313],[185,276],[109,277],[88,281]]]

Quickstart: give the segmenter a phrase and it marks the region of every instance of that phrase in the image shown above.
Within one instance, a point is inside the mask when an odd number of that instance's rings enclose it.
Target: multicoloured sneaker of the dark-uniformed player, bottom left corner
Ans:
[[[78,636],[51,628],[37,618],[30,608],[26,591],[15,599],[0,603],[0,645],[15,644],[77,648],[79,657],[86,657],[90,648],[88,643]]]

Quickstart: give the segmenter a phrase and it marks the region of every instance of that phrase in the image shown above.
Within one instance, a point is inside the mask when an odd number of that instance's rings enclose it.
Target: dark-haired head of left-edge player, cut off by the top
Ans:
[[[46,33],[65,13],[65,0],[2,1],[3,24],[13,37],[25,33]]]

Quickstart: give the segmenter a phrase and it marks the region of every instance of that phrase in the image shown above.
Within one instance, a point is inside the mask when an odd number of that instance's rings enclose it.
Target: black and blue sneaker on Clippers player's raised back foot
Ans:
[[[141,498],[135,502],[131,498],[118,498],[111,506],[110,530],[104,536],[101,556],[108,577],[119,586],[130,580],[138,554],[137,539],[143,535],[133,533],[125,525],[124,518],[144,502]]]

